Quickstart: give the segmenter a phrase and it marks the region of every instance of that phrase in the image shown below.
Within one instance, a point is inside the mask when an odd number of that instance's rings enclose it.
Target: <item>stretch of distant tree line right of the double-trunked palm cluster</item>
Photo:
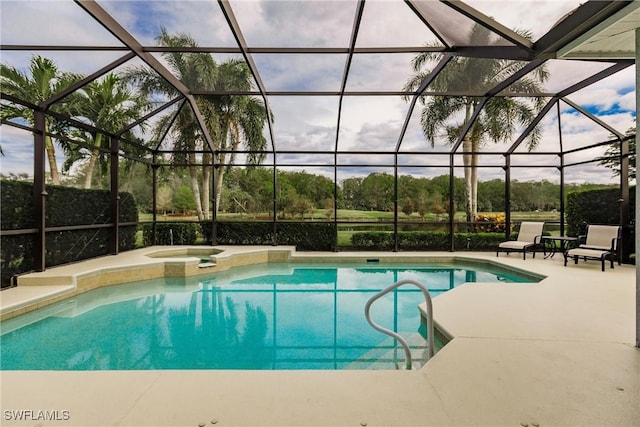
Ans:
[[[300,217],[322,209],[330,216],[334,200],[338,209],[393,212],[394,176],[371,173],[347,178],[334,186],[333,180],[306,171],[277,171],[276,209],[282,217]],[[227,190],[221,200],[224,212],[259,215],[273,211],[273,171],[270,168],[234,168],[225,179]],[[454,209],[464,210],[464,178],[454,177]],[[567,184],[565,191],[615,187],[597,184]],[[449,210],[449,176],[433,178],[398,176],[398,210],[405,215],[436,216]],[[541,181],[511,181],[512,211],[553,211],[560,209],[560,185]],[[501,212],[505,206],[505,183],[501,179],[478,182],[480,212]]]

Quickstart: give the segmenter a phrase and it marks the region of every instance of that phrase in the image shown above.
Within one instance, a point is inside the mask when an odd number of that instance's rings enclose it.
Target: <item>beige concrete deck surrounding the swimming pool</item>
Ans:
[[[246,260],[273,250],[271,260],[279,260],[290,250],[221,249],[214,255],[219,267],[231,265],[226,260],[232,254]],[[83,286],[89,287],[118,275],[122,265],[144,265],[153,274],[168,268],[142,251],[36,273],[29,285],[0,292],[2,314],[10,317],[34,301],[42,305],[73,295],[78,280],[87,278]],[[603,273],[598,262],[563,267],[559,255],[522,260],[519,254],[496,258],[474,252],[298,252],[294,257],[473,258],[547,277],[526,286],[463,285],[435,298],[436,323],[452,340],[421,370],[2,371],[0,423],[640,426],[634,266],[607,267]],[[53,295],[38,296],[36,288]],[[58,420],[38,418],[46,416]]]

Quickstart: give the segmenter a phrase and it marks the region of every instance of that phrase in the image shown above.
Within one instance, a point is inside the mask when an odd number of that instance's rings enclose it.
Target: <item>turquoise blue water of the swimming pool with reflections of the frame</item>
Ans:
[[[110,286],[2,323],[5,370],[392,369],[404,353],[364,318],[376,292],[416,279],[437,297],[464,282],[532,278],[454,265],[262,264]],[[373,319],[426,353],[415,287]]]

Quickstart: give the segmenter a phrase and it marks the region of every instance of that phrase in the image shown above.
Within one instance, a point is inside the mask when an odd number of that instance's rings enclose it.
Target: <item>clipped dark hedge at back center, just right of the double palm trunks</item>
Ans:
[[[201,223],[202,234],[212,242],[211,221]],[[298,250],[330,251],[334,246],[335,225],[322,222],[279,222],[276,232],[271,222],[218,222],[219,245],[290,245]]]

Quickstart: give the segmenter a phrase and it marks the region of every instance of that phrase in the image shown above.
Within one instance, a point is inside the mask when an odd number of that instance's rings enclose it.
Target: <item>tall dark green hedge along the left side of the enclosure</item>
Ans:
[[[111,195],[104,190],[83,190],[48,185],[45,204],[46,227],[68,227],[109,224]],[[136,223],[138,208],[129,193],[120,193],[120,222]],[[2,230],[35,228],[33,212],[33,183],[28,181],[0,181]],[[137,225],[120,227],[119,250],[135,247]],[[34,234],[3,235],[2,286],[9,286],[12,276],[34,270]],[[45,265],[52,267],[82,259],[106,255],[110,249],[110,229],[49,231],[46,236]]]

